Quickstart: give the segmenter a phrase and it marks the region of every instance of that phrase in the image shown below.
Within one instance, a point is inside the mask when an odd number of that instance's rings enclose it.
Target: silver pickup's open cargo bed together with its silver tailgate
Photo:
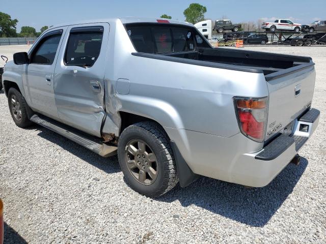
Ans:
[[[310,57],[213,48],[193,52],[133,55],[204,67],[263,73],[269,93],[265,140],[271,139],[289,126],[293,119],[311,105],[315,71]]]

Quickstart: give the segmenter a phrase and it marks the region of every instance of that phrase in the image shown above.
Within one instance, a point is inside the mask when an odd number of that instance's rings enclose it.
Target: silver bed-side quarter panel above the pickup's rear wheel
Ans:
[[[111,23],[110,23],[111,24]],[[234,96],[265,97],[262,73],[248,73],[133,56],[127,32],[119,22],[111,24],[112,58],[105,73],[106,109],[157,121],[163,127],[230,137],[239,133]],[[116,92],[118,79],[130,82],[129,94]],[[118,119],[116,119],[118,123]]]

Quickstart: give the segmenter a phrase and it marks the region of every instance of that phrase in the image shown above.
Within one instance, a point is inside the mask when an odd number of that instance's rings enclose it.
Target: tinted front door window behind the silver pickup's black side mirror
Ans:
[[[51,65],[55,60],[61,34],[44,37],[33,51],[31,64]]]

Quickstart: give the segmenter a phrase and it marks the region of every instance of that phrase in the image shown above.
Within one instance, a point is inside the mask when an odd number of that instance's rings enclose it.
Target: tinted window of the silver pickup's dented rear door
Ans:
[[[72,28],[64,58],[65,65],[93,66],[100,54],[102,38],[102,26]]]

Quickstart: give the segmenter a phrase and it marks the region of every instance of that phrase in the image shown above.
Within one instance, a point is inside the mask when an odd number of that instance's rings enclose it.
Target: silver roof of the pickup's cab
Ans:
[[[89,23],[105,23],[105,22],[114,22],[120,20],[123,24],[126,23],[157,23],[157,20],[168,20],[169,23],[173,24],[184,24],[184,25],[193,25],[188,22],[179,21],[179,20],[173,20],[173,19],[163,19],[163,18],[143,18],[143,17],[117,17],[117,18],[104,18],[104,19],[88,19],[88,20],[79,20],[79,21],[72,21],[72,22],[66,22],[61,24],[56,24],[53,26],[50,26],[50,28],[56,28],[61,26],[67,26],[67,25],[75,25],[75,24],[89,24]]]

